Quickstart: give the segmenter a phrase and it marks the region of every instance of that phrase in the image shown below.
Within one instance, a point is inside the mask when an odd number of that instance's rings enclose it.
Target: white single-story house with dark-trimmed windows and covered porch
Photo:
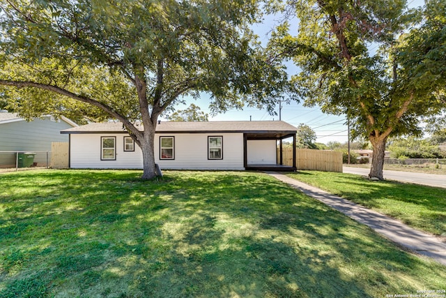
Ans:
[[[296,132],[284,121],[160,122],[155,163],[162,169],[292,171],[295,154],[292,166],[281,165],[277,147],[290,137],[295,144]],[[120,122],[61,133],[70,136],[72,168],[142,168],[141,149]]]

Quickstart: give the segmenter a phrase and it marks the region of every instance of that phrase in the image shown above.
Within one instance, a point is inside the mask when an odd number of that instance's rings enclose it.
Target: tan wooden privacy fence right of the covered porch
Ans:
[[[277,158],[280,156],[277,149]],[[284,165],[293,165],[293,148],[282,150]],[[296,149],[296,167],[298,170],[316,170],[342,172],[342,153],[328,150]]]

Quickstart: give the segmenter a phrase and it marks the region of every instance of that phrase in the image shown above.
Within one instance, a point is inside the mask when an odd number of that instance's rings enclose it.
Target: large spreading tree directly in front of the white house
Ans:
[[[255,0],[0,0],[0,10],[0,94],[26,117],[121,121],[143,179],[155,176],[157,118],[178,98],[206,91],[213,110],[272,110],[286,77],[249,30]]]

